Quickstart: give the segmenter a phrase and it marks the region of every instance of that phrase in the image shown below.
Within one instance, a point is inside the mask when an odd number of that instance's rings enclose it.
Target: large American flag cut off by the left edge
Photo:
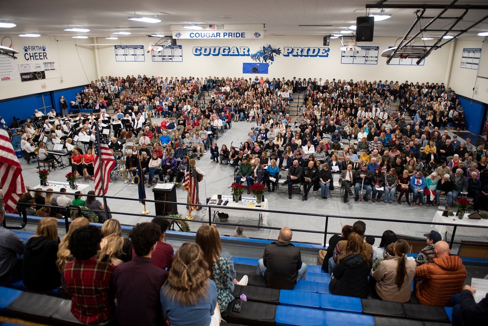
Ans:
[[[5,129],[5,122],[0,116],[0,180],[5,202],[5,211],[12,213],[15,211],[20,196],[25,193],[22,168],[14,148],[10,142],[10,137]]]

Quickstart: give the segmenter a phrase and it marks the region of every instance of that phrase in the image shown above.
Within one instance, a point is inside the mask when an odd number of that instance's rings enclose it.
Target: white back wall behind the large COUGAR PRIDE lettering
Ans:
[[[382,50],[394,44],[394,38],[375,38],[374,42],[360,43],[358,45],[380,46]],[[149,38],[121,38],[123,45],[144,45],[148,47]],[[178,40],[178,45],[183,46],[183,62],[151,62],[150,54],[146,54],[145,62],[115,62],[113,46],[99,47],[99,60],[102,75],[127,76],[146,74],[148,76],[232,76],[246,78],[254,77],[254,74],[242,74],[242,63],[253,62],[249,57],[223,57],[223,56],[194,56],[193,46],[248,46],[251,53],[257,51],[265,44],[271,43],[283,49],[284,46],[322,46],[323,38],[318,36],[303,37],[278,37],[266,36],[264,40]],[[340,41],[331,40],[330,52],[327,58],[303,58],[277,56],[273,65],[270,65],[268,77],[285,77],[291,79],[294,76],[301,78],[332,78],[353,80],[405,80],[413,82],[441,83],[446,78],[449,50],[442,48],[434,51],[425,59],[423,66],[399,66],[386,65],[386,58],[380,58],[378,65],[345,65],[340,63]],[[266,77],[266,76],[265,76]]]

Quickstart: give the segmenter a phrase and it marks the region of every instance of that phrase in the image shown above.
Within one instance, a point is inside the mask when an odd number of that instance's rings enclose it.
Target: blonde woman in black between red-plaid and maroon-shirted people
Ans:
[[[117,266],[132,260],[132,244],[122,237],[120,222],[116,219],[107,219],[102,225],[103,239],[100,242],[98,261],[111,262]]]

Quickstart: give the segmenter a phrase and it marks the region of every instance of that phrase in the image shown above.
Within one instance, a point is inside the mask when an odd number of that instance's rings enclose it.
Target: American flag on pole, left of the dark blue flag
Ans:
[[[100,150],[95,143],[95,194],[101,196],[102,192],[106,194],[108,191],[108,183],[110,182],[110,172],[117,165],[113,158],[112,152],[108,148],[104,137],[100,137],[100,131],[97,129],[96,137],[100,138]],[[102,165],[100,165],[99,155],[102,156]],[[104,183],[102,188],[102,173],[104,174]]]

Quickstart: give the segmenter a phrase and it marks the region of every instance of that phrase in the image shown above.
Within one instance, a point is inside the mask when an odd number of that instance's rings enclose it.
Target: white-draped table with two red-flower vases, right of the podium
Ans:
[[[209,205],[212,209],[207,209],[207,218],[210,217],[210,211],[212,211],[212,217],[214,218],[216,213],[227,213],[229,217],[240,217],[246,219],[257,219],[257,225],[259,226],[261,221],[263,225],[267,225],[266,221],[268,219],[269,213],[265,212],[269,209],[268,199],[263,199],[260,203],[256,203],[255,197],[244,197],[239,202],[233,201],[233,196],[222,196],[222,204],[217,205],[218,195],[213,195],[210,198]],[[215,200],[215,204],[211,202]],[[224,202],[228,200],[227,205],[223,205]],[[245,208],[245,210],[236,210],[233,208]]]

